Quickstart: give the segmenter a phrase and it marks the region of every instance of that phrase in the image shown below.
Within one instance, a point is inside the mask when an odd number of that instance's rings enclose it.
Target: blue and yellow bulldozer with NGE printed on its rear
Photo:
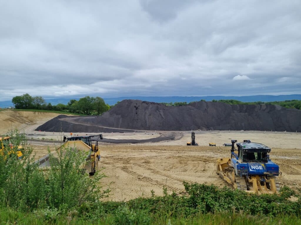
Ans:
[[[280,190],[279,166],[269,158],[271,149],[250,140],[231,140],[231,158],[217,160],[216,173],[235,189],[256,194],[273,194]]]

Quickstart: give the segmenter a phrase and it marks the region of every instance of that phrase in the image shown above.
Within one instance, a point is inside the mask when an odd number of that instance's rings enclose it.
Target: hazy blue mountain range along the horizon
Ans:
[[[45,99],[47,103],[51,103],[52,105],[67,104],[70,99],[79,100],[79,98],[53,98],[53,99]],[[122,101],[124,99],[134,99],[141,101],[150,101],[150,102],[192,102],[192,101],[200,101],[204,99],[206,101],[222,100],[222,99],[234,99],[242,102],[255,102],[255,101],[263,101],[263,102],[272,102],[272,101],[285,101],[285,100],[301,100],[301,95],[250,95],[250,96],[130,96],[130,97],[118,97],[118,98],[104,98],[106,104],[114,105],[118,101]],[[8,108],[13,104],[11,101],[2,101],[0,102],[0,108]]]

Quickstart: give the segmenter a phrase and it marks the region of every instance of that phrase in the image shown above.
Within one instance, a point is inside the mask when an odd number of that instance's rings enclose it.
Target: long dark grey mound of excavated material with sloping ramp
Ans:
[[[229,105],[194,102],[165,106],[140,100],[123,100],[102,116],[57,116],[36,130],[110,132],[131,130],[266,130],[300,131],[301,110],[278,105]]]

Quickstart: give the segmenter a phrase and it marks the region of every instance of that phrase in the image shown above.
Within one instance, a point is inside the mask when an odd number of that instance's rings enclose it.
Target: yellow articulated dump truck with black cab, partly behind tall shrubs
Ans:
[[[98,162],[100,160],[100,150],[98,149],[98,140],[102,139],[102,134],[95,136],[64,136],[63,142],[65,142],[60,148],[76,148],[80,151],[88,152],[88,157],[86,161],[83,162],[82,169],[88,171],[90,175],[94,175],[96,170],[98,170]],[[48,170],[49,155],[45,155],[40,158],[36,163],[39,164],[41,170]]]

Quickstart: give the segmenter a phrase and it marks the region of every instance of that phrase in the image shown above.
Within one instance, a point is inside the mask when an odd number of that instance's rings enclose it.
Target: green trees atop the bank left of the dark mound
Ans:
[[[101,97],[90,96],[80,98],[78,101],[71,99],[67,105],[61,103],[52,105],[51,103],[46,103],[42,96],[33,97],[26,93],[21,96],[15,96],[11,102],[16,109],[51,110],[85,115],[101,115],[110,109],[110,106],[105,104]]]

